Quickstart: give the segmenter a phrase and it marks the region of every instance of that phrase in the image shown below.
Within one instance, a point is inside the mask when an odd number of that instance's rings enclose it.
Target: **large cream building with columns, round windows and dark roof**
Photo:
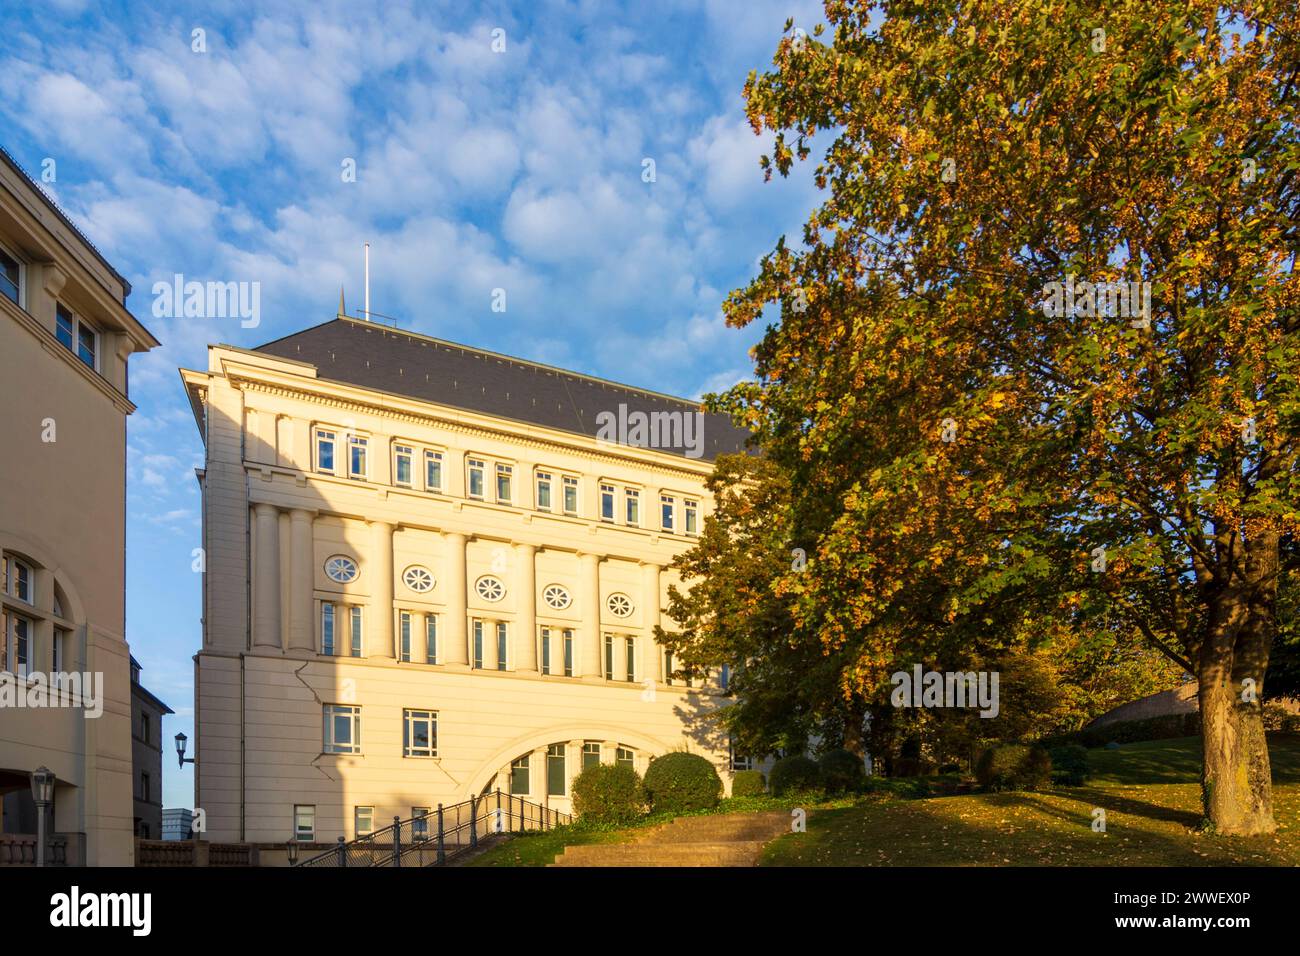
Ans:
[[[742,447],[724,418],[344,316],[182,377],[209,839],[332,843],[498,787],[567,812],[585,762],[673,749],[729,786],[718,678],[673,679],[653,639]]]

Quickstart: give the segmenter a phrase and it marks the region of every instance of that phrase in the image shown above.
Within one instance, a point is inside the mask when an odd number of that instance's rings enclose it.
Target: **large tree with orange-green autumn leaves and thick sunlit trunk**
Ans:
[[[872,693],[909,643],[1118,615],[1199,680],[1204,797],[1274,829],[1257,695],[1296,533],[1294,3],[827,3],[746,109],[824,202],[725,303],[720,402],[790,476],[792,627]],[[926,602],[924,606],[920,602]]]

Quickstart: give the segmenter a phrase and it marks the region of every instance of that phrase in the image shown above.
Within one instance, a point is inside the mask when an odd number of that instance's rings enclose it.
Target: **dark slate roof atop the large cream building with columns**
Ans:
[[[316,365],[317,375],[330,381],[592,437],[597,414],[618,415],[620,405],[629,414],[699,411],[698,403],[684,398],[346,316],[256,351]],[[744,451],[748,436],[725,415],[706,414],[699,458]],[[659,450],[686,457],[681,444]]]

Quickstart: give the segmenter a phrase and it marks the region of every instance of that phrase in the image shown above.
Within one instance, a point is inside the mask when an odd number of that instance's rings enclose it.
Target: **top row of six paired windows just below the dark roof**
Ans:
[[[339,460],[339,445],[343,434],[334,428],[316,428],[316,471],[326,475],[364,481],[369,479],[369,438],[359,434],[346,434],[346,449]],[[422,473],[417,468],[422,463]],[[443,473],[443,453],[437,449],[421,447],[413,444],[395,442],[393,445],[393,483],[403,488],[425,492],[446,493]],[[556,488],[556,477],[559,485]],[[580,481],[576,475],[559,475],[538,468],[533,473],[534,501],[538,511],[559,511],[576,516],[580,512]],[[491,494],[489,494],[489,483]],[[558,493],[556,493],[558,492]],[[611,484],[601,484],[601,520],[615,523],[616,498],[620,489]],[[474,501],[494,501],[499,505],[515,503],[515,466],[506,462],[489,462],[486,458],[465,459],[465,497]],[[636,488],[621,488],[621,522],[628,527],[642,527],[641,492]],[[699,533],[699,502],[681,498],[681,529],[686,535]],[[679,498],[672,494],[659,496],[659,528],[667,532],[677,531]]]

